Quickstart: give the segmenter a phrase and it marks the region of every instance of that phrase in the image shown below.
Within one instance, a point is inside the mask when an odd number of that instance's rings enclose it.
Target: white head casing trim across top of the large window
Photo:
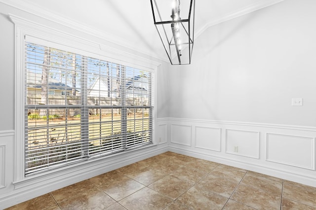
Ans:
[[[18,25],[21,29],[23,29],[25,35],[27,35],[27,38],[30,41],[33,39],[33,37],[36,37],[37,41],[39,41],[40,38],[43,42],[49,42],[49,45],[53,44],[56,46],[56,48],[62,50],[73,51],[76,49],[76,52],[74,53],[83,55],[92,53],[93,55],[88,56],[95,57],[96,55],[99,55],[101,58],[107,58],[109,61],[119,62],[121,64],[126,64],[135,68],[147,68],[146,70],[153,70],[161,65],[160,62],[149,60],[131,53],[127,53],[125,51],[92,42],[91,40],[67,33],[63,30],[54,29],[49,26],[30,21],[14,14],[9,14],[9,18],[15,25]]]

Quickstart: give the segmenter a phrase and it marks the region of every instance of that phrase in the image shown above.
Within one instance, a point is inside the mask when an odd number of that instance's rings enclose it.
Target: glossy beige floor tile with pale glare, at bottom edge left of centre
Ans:
[[[145,187],[119,201],[119,204],[128,210],[162,210],[171,202],[172,199]]]

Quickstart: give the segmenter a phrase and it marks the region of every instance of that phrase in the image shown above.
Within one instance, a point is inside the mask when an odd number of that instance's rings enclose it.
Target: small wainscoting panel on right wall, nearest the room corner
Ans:
[[[171,124],[171,143],[191,147],[192,126],[182,124]]]

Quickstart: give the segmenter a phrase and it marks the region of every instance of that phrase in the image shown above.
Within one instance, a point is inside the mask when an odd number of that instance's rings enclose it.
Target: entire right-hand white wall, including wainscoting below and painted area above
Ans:
[[[166,77],[169,150],[316,186],[315,11],[284,0],[198,36]]]

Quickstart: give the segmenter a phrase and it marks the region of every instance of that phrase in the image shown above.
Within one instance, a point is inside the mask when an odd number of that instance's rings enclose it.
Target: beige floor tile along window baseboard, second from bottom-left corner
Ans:
[[[80,181],[78,183],[63,187],[61,189],[51,192],[57,203],[68,200],[78,194],[96,188],[96,186],[89,180]]]

